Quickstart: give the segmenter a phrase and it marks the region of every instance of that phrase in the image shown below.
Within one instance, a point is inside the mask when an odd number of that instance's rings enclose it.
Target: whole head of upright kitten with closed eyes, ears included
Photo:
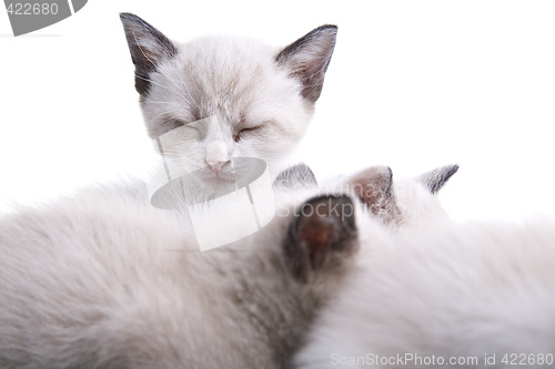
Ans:
[[[158,139],[211,116],[219,122],[183,143],[191,168],[209,166],[218,175],[240,156],[262,158],[274,168],[304,135],[336,27],[320,27],[275,49],[236,37],[176,43],[137,16],[122,13],[121,20],[149,135]],[[180,155],[182,148],[164,152]]]

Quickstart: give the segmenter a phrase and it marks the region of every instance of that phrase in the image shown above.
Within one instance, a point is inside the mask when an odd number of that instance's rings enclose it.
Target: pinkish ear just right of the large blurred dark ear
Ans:
[[[389,166],[373,166],[353,175],[347,186],[363,204],[385,222],[400,221],[393,195],[393,173]]]

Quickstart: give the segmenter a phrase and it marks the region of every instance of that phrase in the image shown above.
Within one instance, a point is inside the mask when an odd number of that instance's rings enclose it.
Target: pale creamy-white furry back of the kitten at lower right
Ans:
[[[372,240],[296,368],[553,367],[555,223],[444,222]]]

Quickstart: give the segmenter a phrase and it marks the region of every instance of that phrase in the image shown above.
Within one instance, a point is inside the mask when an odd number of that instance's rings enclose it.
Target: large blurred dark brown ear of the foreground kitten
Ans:
[[[307,281],[312,273],[343,266],[356,250],[356,234],[349,196],[314,197],[301,206],[290,226],[285,263],[295,278]]]

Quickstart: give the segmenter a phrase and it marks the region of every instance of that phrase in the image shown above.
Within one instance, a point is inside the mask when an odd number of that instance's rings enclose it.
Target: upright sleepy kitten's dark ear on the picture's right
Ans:
[[[283,49],[275,61],[302,83],[301,94],[309,101],[320,98],[324,74],[332,59],[336,25],[322,25]]]

